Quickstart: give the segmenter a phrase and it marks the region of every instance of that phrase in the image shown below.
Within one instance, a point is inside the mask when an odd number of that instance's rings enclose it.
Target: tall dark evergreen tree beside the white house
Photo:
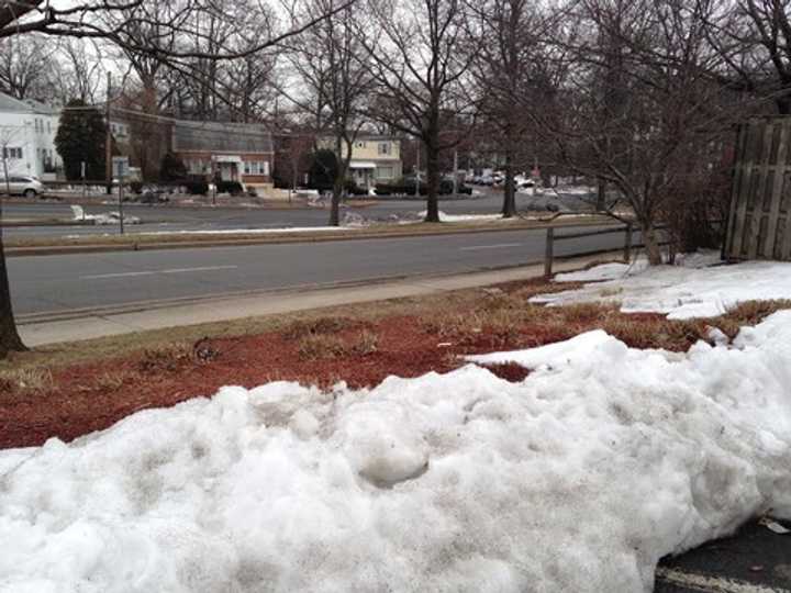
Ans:
[[[73,99],[60,114],[55,146],[63,158],[66,179],[80,179],[80,164],[86,164],[86,179],[104,179],[107,126],[99,110]]]

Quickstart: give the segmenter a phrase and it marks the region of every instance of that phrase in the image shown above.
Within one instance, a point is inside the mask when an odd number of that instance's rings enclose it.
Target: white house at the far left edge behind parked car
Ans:
[[[63,160],[55,149],[60,112],[37,101],[0,92],[0,176],[31,175],[54,180]]]

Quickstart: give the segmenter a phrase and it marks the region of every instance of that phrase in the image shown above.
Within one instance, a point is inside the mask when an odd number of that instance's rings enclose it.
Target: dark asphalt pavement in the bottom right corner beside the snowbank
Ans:
[[[775,521],[791,530],[791,522]],[[665,558],[655,593],[791,593],[791,533],[754,521],[733,537]]]

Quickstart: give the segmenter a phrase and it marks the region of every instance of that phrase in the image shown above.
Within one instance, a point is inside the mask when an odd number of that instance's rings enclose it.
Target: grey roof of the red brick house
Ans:
[[[178,121],[176,153],[271,153],[271,133],[260,124]]]

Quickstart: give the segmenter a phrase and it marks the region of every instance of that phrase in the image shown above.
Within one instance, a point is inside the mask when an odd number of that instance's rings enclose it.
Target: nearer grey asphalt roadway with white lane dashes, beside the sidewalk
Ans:
[[[501,231],[70,254],[10,258],[8,267],[15,311],[30,314],[516,266],[541,260],[545,237],[545,231]],[[622,245],[623,234],[615,233],[559,242],[555,253],[576,255]]]

